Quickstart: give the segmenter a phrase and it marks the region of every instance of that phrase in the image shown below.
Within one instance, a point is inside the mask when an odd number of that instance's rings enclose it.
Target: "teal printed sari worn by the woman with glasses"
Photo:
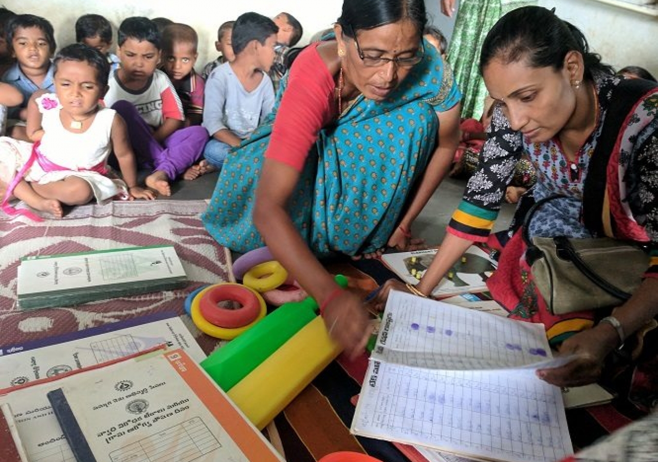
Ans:
[[[363,96],[324,127],[290,197],[290,217],[316,256],[386,246],[414,182],[436,147],[436,111],[461,97],[434,47],[382,102]],[[281,96],[272,113],[228,154],[201,219],[218,243],[247,252],[265,245],[253,224],[257,181]]]

